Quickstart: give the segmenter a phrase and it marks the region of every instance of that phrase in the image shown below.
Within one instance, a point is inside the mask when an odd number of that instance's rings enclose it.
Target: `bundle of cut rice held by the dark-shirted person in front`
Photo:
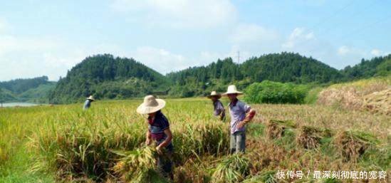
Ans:
[[[142,147],[130,152],[118,152],[122,159],[113,170],[125,182],[167,182],[157,172],[157,152],[153,147]]]

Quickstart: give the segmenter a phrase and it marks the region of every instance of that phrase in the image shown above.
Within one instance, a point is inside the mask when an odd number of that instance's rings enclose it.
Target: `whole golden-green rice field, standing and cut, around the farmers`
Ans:
[[[145,147],[142,100],[0,108],[0,182],[167,182]],[[224,100],[224,105],[227,101]],[[246,154],[204,98],[167,99],[174,182],[390,182],[391,116],[323,105],[251,105]],[[278,179],[278,171],[385,171],[385,179]],[[307,175],[307,173],[305,173]]]

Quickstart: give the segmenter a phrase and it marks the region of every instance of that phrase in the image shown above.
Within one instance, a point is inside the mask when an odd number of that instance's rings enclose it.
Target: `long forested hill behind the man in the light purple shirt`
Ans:
[[[174,86],[171,95],[206,95],[210,90],[224,91],[228,83],[244,88],[250,83],[272,80],[291,83],[328,83],[342,79],[335,68],[298,53],[273,53],[237,64],[231,58],[208,66],[187,68],[167,74]]]

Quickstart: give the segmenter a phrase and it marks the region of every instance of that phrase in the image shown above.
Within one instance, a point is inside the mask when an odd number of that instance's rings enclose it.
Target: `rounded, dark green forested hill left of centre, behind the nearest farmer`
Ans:
[[[104,54],[85,58],[58,80],[49,96],[50,103],[72,103],[88,95],[99,99],[142,97],[167,91],[170,81],[164,75],[132,58]]]

